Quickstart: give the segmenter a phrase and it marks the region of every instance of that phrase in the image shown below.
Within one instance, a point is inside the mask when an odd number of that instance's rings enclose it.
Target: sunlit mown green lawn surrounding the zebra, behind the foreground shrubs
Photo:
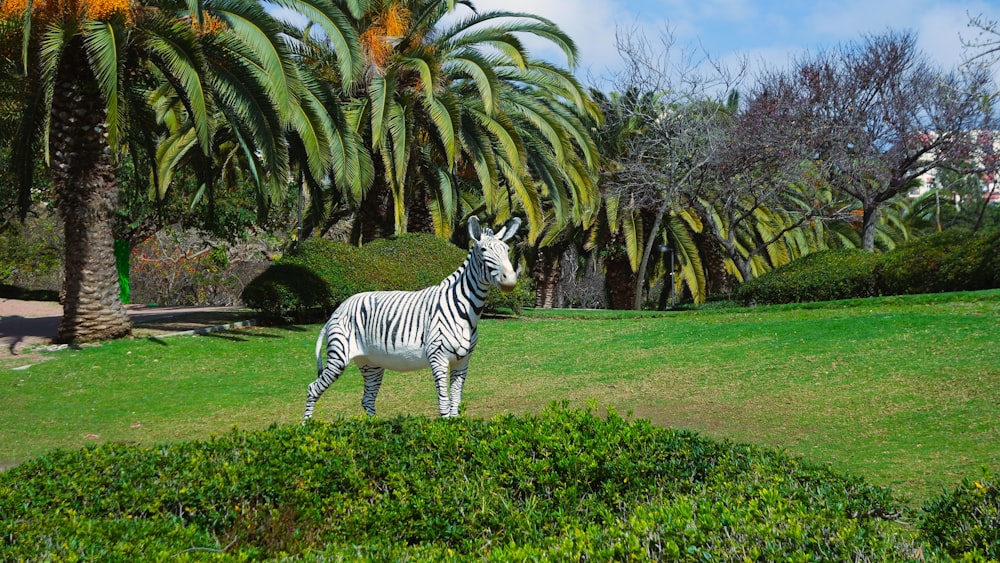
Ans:
[[[298,423],[318,326],[130,340],[0,371],[0,466],[52,448]],[[920,503],[1000,471],[1000,291],[673,313],[485,319],[466,416],[551,401],[783,448]],[[316,417],[360,415],[351,367]],[[436,416],[429,371],[380,415]]]

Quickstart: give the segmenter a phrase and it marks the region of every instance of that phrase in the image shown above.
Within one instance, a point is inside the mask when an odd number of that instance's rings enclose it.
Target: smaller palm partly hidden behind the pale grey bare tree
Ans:
[[[702,301],[705,276],[691,230],[700,222],[689,210],[672,211],[672,194],[696,183],[710,162],[714,130],[733,111],[735,96],[726,104],[671,101],[669,92],[630,88],[595,98],[607,115],[596,137],[605,156],[603,240],[612,306],[641,307],[657,246],[671,249],[681,267],[676,279]]]

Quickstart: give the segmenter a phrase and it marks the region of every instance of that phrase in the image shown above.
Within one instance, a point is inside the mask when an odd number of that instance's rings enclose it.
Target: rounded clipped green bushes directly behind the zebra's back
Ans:
[[[380,239],[361,248],[308,239],[247,284],[242,299],[265,317],[316,320],[355,293],[436,285],[465,255],[425,234]]]

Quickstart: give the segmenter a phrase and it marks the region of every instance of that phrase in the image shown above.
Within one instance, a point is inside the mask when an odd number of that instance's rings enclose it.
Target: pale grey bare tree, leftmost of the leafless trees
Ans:
[[[602,100],[598,142],[611,165],[601,184],[612,231],[621,223],[619,238],[635,272],[631,306],[639,309],[664,217],[713,161],[726,96],[742,69],[729,72],[707,56],[677,49],[669,31],[658,45],[635,29],[619,29],[616,41],[624,65],[613,81],[615,94]]]

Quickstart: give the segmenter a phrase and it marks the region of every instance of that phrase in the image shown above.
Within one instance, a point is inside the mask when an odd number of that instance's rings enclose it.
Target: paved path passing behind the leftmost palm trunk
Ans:
[[[138,335],[198,330],[248,320],[253,315],[235,307],[147,307],[127,305]],[[51,344],[59,331],[62,305],[51,301],[0,298],[0,357],[25,347]]]

